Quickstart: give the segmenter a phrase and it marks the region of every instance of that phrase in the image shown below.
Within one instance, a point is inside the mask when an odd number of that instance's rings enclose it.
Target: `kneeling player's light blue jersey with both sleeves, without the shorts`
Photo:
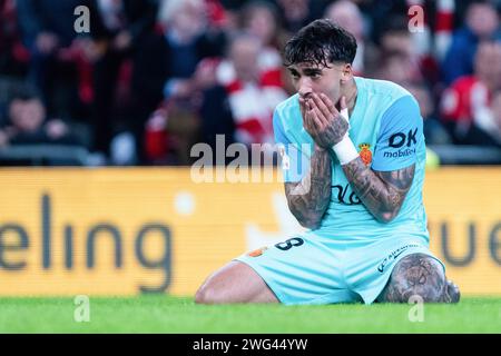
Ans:
[[[357,98],[350,117],[350,137],[373,170],[397,170],[415,164],[414,179],[399,215],[379,222],[352,190],[332,152],[332,197],[316,231],[336,239],[374,239],[395,233],[429,238],[422,188],[425,165],[423,119],[415,99],[402,87],[383,80],[355,77]],[[285,181],[299,181],[308,170],[313,139],[303,127],[298,96],[275,110],[274,130],[289,158]],[[307,145],[304,145],[307,144]]]

